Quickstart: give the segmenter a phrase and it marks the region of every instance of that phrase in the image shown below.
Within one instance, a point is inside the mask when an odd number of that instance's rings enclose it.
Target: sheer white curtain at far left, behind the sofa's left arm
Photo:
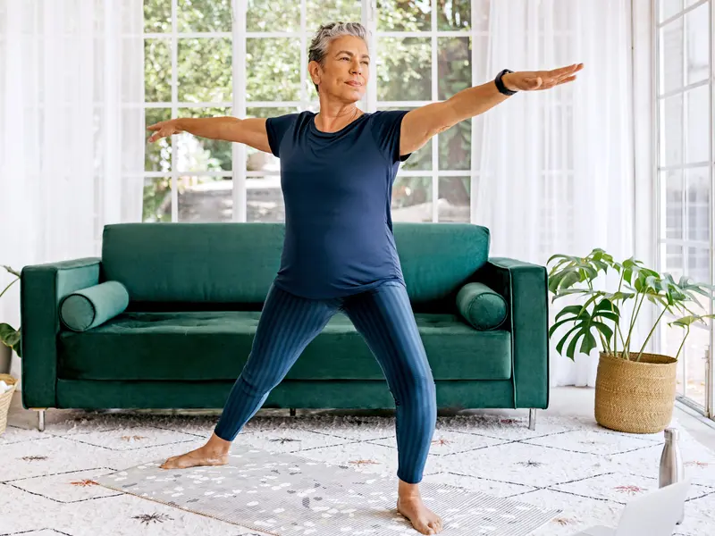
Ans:
[[[141,221],[143,25],[142,0],[0,0],[0,264],[99,255],[105,223]]]

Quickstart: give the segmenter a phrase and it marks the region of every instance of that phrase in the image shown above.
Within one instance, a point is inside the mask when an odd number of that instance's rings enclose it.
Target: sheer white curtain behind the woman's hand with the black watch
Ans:
[[[630,3],[492,0],[487,72],[585,63],[576,82],[512,96],[484,115],[476,222],[494,256],[633,250]],[[551,297],[550,297],[551,299]],[[551,322],[567,302],[550,306]],[[552,385],[594,385],[598,355],[551,345]]]

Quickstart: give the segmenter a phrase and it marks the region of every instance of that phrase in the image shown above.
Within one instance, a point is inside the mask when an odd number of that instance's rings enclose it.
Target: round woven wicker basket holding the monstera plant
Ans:
[[[676,381],[674,357],[643,354],[635,362],[601,352],[596,374],[596,422],[630,433],[663,431],[673,416]]]

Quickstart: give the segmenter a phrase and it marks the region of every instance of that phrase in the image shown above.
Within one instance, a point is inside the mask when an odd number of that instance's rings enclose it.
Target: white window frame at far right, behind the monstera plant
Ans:
[[[679,246],[683,247],[683,263],[684,263],[684,273],[686,275],[688,274],[688,253],[687,253],[687,248],[688,247],[706,247],[708,248],[710,252],[710,273],[711,273],[711,281],[709,281],[711,284],[715,284],[715,230],[713,230],[713,223],[715,222],[715,164],[713,163],[713,160],[715,160],[715,148],[713,148],[713,138],[715,138],[715,131],[713,131],[713,105],[715,104],[715,95],[713,95],[713,92],[715,91],[715,83],[713,83],[713,57],[715,56],[713,52],[713,41],[715,40],[713,38],[713,34],[715,33],[715,0],[700,0],[698,2],[695,2],[692,5],[689,5],[685,7],[684,3],[684,9],[682,9],[680,12],[678,12],[675,15],[670,16],[668,19],[665,19],[663,21],[660,21],[660,5],[663,2],[663,0],[652,0],[652,28],[653,30],[653,42],[654,42],[654,48],[653,48],[653,57],[654,57],[654,62],[653,62],[653,79],[652,79],[652,99],[654,102],[652,113],[652,121],[653,124],[655,125],[655,129],[653,129],[653,172],[654,172],[654,186],[655,186],[655,191],[654,191],[654,198],[656,199],[656,205],[655,205],[655,229],[656,229],[656,259],[657,259],[657,266],[659,272],[663,271],[665,269],[665,263],[666,263],[666,252],[667,252],[667,247],[668,246]],[[685,77],[687,75],[687,69],[684,69],[683,71],[683,84],[684,87],[682,88],[677,88],[674,90],[671,90],[669,92],[660,94],[660,64],[661,64],[661,56],[660,56],[660,29],[666,25],[668,25],[672,21],[676,21],[680,17],[685,17],[686,13],[690,13],[694,9],[699,8],[703,4],[709,4],[709,10],[710,10],[710,38],[709,38],[709,56],[710,56],[710,73],[708,75],[707,80],[702,80],[700,82],[695,82],[693,84],[688,84],[686,85],[685,82]],[[685,24],[685,22],[684,22]],[[687,29],[684,26],[683,29],[683,40],[684,40],[684,46],[683,46],[683,54],[686,56],[684,58],[684,65],[686,65],[687,61],[687,50],[686,50],[686,37],[687,37]],[[661,151],[660,151],[660,139],[661,139],[661,131],[663,128],[667,128],[667,125],[662,125],[661,124],[661,117],[660,117],[660,105],[663,102],[665,98],[668,98],[669,96],[675,96],[679,94],[685,95],[686,92],[690,89],[694,88],[699,88],[702,86],[708,86],[710,88],[710,105],[709,105],[709,130],[710,130],[710,154],[708,156],[708,161],[707,162],[701,162],[701,163],[681,163],[680,165],[670,165],[670,166],[663,166],[661,165],[660,157],[661,157]],[[686,161],[686,139],[687,139],[687,108],[684,103],[683,105],[683,116],[682,116],[682,123],[681,123],[681,128],[683,129],[683,147],[681,148],[682,154],[683,154],[683,159]],[[709,241],[699,241],[699,240],[689,240],[687,239],[687,229],[688,229],[688,221],[687,221],[687,184],[685,181],[685,173],[687,169],[692,169],[694,167],[703,167],[707,166],[710,172],[710,178],[711,178],[711,190],[710,190],[710,196],[711,196],[711,211],[710,211],[710,240]],[[664,193],[664,188],[665,185],[661,182],[660,177],[662,172],[667,172],[671,170],[677,170],[681,171],[684,174],[684,188],[683,188],[683,197],[682,197],[682,213],[681,213],[681,218],[683,221],[683,239],[669,239],[666,236],[666,229],[665,229],[665,222],[666,222],[666,217],[667,217],[667,210],[665,206],[665,199],[663,197]],[[713,307],[711,305],[710,307],[710,314],[713,313]],[[663,320],[666,320],[666,317],[663,317]],[[672,319],[668,319],[672,320]],[[656,351],[661,351],[660,348],[663,347],[663,340],[664,340],[664,334],[665,330],[671,330],[673,328],[669,328],[668,326],[663,327],[662,323],[660,324],[660,332],[658,333],[658,337],[655,340],[655,348]],[[703,330],[705,328],[702,328],[698,325],[693,325],[691,327],[691,330]],[[704,406],[702,406],[700,403],[694,401],[691,398],[687,398],[687,355],[685,353],[686,348],[683,349],[684,355],[681,356],[680,358],[680,363],[678,366],[682,366],[682,376],[683,376],[683,381],[684,381],[684,389],[686,395],[681,395],[680,393],[677,393],[677,399],[680,400],[683,404],[686,406],[691,407],[695,411],[702,413],[703,415],[709,416],[709,417],[714,417],[715,416],[715,366],[713,366],[713,362],[715,361],[715,350],[713,349],[713,345],[715,345],[715,322],[711,322],[711,329],[709,331],[709,339],[710,339],[710,353],[708,356],[707,364],[706,366],[706,371],[705,371],[705,400],[704,400]]]

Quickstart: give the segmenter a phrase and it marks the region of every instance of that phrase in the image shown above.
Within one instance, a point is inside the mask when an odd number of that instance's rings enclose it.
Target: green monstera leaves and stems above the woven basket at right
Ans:
[[[577,296],[583,299],[583,304],[580,306],[565,306],[561,309],[556,314],[555,322],[549,330],[549,337],[553,337],[560,327],[568,326],[570,328],[561,337],[556,349],[559,354],[563,355],[564,346],[570,338],[566,356],[571,359],[574,359],[576,350],[588,354],[591,350],[598,348],[596,339],[598,337],[604,352],[613,356],[621,356],[624,359],[640,361],[645,346],[655,332],[660,319],[666,313],[676,317],[680,316],[675,321],[669,322],[669,325],[686,329],[686,335],[675,356],[677,358],[690,334],[690,326],[694,322],[704,323],[707,318],[715,318],[713,314],[697,314],[691,310],[692,306],[703,308],[696,295],[705,297],[708,301],[715,299],[712,292],[715,287],[706,283],[692,282],[686,276],[676,282],[671,274],[661,275],[644,267],[641,261],[633,257],[618,263],[613,260],[612,255],[596,248],[585,257],[553,255],[547,264],[552,264],[549,272],[549,291],[553,294],[551,302],[560,297]],[[615,292],[594,290],[593,282],[601,274],[606,275],[609,268],[620,274],[618,289]],[[620,307],[618,307],[619,304],[622,305],[628,300],[634,300],[633,313],[629,320],[624,318]],[[660,314],[653,323],[643,346],[636,354],[635,350],[632,351],[631,348],[632,337],[638,314],[640,314],[645,300],[656,306]],[[627,321],[626,326],[624,326],[624,321]],[[622,348],[620,354],[618,353],[618,342]]]

